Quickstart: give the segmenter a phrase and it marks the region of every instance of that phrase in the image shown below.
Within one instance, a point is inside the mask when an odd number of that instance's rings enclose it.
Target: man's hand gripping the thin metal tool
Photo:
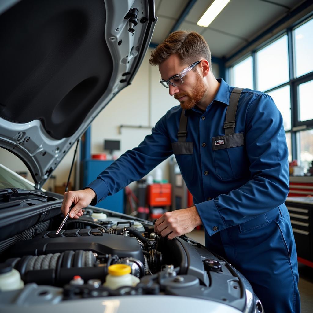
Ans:
[[[74,203],[75,206],[71,209],[69,217],[78,219],[84,214],[83,208],[87,207],[90,204],[91,200],[95,198],[95,196],[95,192],[90,188],[78,191],[64,192],[61,212],[65,216],[69,212],[71,205]]]

